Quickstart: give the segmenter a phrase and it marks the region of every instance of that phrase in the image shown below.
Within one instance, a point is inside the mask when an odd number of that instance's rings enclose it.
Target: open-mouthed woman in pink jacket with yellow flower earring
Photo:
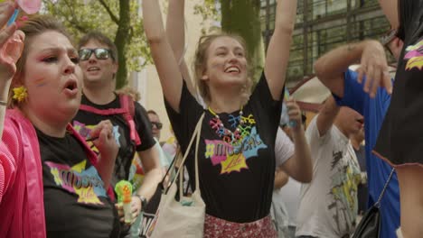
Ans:
[[[15,7],[0,4],[0,29]],[[82,83],[70,39],[48,16],[0,31],[2,237],[118,237],[107,192],[118,146],[101,122],[91,133],[97,158],[69,124]]]

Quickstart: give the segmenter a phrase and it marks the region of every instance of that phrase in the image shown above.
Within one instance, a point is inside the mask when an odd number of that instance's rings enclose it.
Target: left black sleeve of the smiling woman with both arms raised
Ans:
[[[176,139],[181,144],[183,151],[185,151],[186,146],[193,135],[195,125],[202,115],[202,105],[200,105],[195,97],[191,95],[188,87],[186,87],[185,81],[183,81],[181,101],[179,102],[179,113],[174,111],[165,98],[164,105],[172,124],[172,128],[174,129]]]

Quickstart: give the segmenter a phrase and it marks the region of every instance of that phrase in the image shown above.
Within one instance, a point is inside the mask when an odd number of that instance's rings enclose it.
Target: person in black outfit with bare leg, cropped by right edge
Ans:
[[[397,170],[401,215],[401,228],[397,232],[399,237],[421,237],[423,0],[380,0],[380,3],[404,47],[400,54],[390,108],[374,151]]]

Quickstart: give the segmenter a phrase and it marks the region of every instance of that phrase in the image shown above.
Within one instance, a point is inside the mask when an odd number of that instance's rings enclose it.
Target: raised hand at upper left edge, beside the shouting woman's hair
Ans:
[[[24,49],[24,32],[16,31],[16,24],[5,26],[14,14],[16,5],[11,2],[0,4],[0,78],[8,80],[16,72],[16,61]]]

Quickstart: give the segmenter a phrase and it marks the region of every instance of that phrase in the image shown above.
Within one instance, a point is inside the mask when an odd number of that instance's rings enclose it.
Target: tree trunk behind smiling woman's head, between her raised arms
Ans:
[[[259,0],[221,0],[223,32],[239,34],[247,43],[253,66],[253,81],[257,82],[264,65],[264,42],[260,23]]]

